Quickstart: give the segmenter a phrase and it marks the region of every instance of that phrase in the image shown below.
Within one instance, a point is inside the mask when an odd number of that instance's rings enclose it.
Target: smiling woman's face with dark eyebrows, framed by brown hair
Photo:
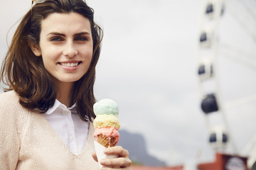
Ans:
[[[52,13],[41,21],[40,49],[44,67],[58,85],[73,84],[90,67],[92,31],[90,21],[78,13]]]

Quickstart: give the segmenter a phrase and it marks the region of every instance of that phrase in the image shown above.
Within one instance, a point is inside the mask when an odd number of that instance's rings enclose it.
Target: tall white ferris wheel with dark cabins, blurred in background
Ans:
[[[203,15],[201,16],[201,26],[199,32],[198,43],[198,89],[201,96],[201,110],[206,118],[206,125],[208,128],[208,137],[210,145],[217,152],[231,152],[231,154],[242,154],[248,157],[247,166],[252,169],[256,166],[256,136],[248,142],[243,152],[239,152],[233,140],[232,128],[230,128],[229,121],[226,116],[225,100],[220,91],[220,72],[218,72],[219,64],[219,50],[223,45],[220,42],[220,21],[225,15],[224,0],[207,0],[203,1]],[[240,2],[241,3],[241,2]],[[230,12],[230,11],[229,11]],[[235,15],[234,11],[231,11]],[[250,13],[250,8],[247,8],[247,13]],[[254,13],[250,13],[252,18],[255,18]],[[238,20],[238,22],[240,22]],[[241,26],[243,26],[241,24]],[[243,26],[250,34],[252,41],[255,41],[256,34],[252,33],[250,29]],[[238,49],[235,50],[239,54]],[[244,55],[244,54],[243,54]],[[251,55],[256,59],[256,55]],[[240,60],[238,57],[233,57],[234,60]],[[254,60],[255,60],[254,59]],[[255,60],[256,61],[256,60]],[[239,61],[240,64],[247,64],[247,67],[256,70],[256,62],[251,62],[247,59]],[[239,101],[234,101],[233,105],[238,103],[245,103],[247,101],[256,100],[256,95],[241,98]],[[226,147],[229,147],[227,151]],[[255,167],[256,168],[256,167]]]

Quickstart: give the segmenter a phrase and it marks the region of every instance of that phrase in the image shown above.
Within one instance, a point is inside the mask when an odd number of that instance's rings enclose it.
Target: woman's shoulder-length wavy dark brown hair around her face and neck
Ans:
[[[82,0],[46,0],[31,8],[18,25],[9,50],[1,67],[1,81],[8,89],[14,90],[19,102],[31,111],[46,113],[53,106],[57,89],[46,71],[42,57],[33,54],[28,42],[39,46],[41,21],[51,13],[79,13],[90,21],[93,40],[93,53],[86,74],[75,81],[71,103],[77,104],[78,114],[84,121],[95,118],[92,106],[95,103],[93,86],[95,67],[100,57],[100,44],[103,32],[94,22],[94,11]]]

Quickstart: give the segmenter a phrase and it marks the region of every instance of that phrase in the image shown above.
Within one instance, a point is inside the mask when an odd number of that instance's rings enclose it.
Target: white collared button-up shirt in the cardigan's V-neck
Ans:
[[[79,117],[76,105],[67,108],[56,99],[53,107],[43,115],[70,151],[80,154],[87,141],[89,123]]]

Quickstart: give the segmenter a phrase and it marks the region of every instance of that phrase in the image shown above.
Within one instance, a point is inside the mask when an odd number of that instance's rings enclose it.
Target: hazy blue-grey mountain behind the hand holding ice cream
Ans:
[[[146,150],[144,137],[137,133],[119,130],[120,139],[118,145],[129,151],[129,159],[133,162],[147,166],[165,166],[166,163],[151,156]]]

